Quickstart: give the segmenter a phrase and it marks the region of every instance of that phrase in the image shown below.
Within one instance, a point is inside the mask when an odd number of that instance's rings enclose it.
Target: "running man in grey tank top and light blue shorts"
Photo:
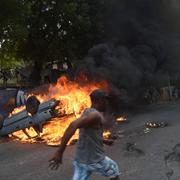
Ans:
[[[107,157],[104,152],[103,124],[105,118],[108,94],[103,90],[95,90],[90,95],[92,107],[84,111],[83,115],[72,122],[66,129],[61,145],[54,157],[50,160],[51,169],[57,170],[62,164],[63,153],[68,141],[77,129],[80,129],[79,140],[74,159],[73,180],[88,180],[92,173],[99,173],[111,180],[119,180],[119,169],[116,162]]]

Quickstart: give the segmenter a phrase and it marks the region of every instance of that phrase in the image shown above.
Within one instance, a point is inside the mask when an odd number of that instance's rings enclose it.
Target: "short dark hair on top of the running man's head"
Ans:
[[[96,89],[90,94],[90,98],[93,102],[101,99],[108,99],[108,97],[108,93],[103,89]]]

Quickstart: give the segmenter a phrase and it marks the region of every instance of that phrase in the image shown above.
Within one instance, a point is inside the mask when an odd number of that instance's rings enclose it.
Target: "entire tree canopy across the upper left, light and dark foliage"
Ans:
[[[1,58],[81,59],[102,40],[103,4],[102,0],[2,0]]]

